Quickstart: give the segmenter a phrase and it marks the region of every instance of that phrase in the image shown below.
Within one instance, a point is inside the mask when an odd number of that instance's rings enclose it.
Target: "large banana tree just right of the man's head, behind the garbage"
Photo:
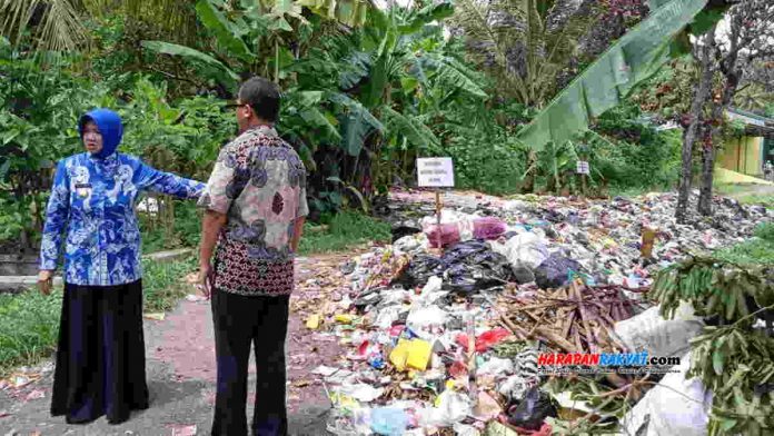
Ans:
[[[353,89],[357,100],[381,121],[386,131],[373,135],[373,128],[347,117],[343,127],[350,135],[344,138],[343,146],[353,156],[365,149],[364,156],[369,158],[363,162],[366,168],[377,165],[386,170],[366,171],[377,188],[391,181],[396,168],[409,170],[414,157],[440,148],[428,125],[445,101],[459,96],[476,100],[487,97],[477,73],[448,54],[443,30],[431,24],[452,13],[449,3],[374,10],[358,51],[350,56],[351,63],[360,68],[348,75],[348,82],[343,86]],[[396,150],[403,152],[397,162],[393,153]]]

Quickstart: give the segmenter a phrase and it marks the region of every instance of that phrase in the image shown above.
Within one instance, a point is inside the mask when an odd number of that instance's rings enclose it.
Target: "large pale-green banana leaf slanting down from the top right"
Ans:
[[[672,38],[691,23],[707,0],[672,0],[605,51],[575,78],[519,133],[534,150],[549,141],[564,143],[606,110],[621,103],[629,91],[669,59]]]

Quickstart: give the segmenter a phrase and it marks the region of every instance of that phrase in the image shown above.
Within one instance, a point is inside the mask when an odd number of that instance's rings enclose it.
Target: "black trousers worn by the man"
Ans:
[[[218,379],[212,436],[246,436],[247,368],[256,348],[256,436],[287,435],[285,338],[289,296],[212,291]]]

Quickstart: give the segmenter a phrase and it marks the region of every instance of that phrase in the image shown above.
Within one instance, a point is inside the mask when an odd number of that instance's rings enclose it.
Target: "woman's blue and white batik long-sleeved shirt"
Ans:
[[[198,198],[204,188],[199,181],[158,171],[133,156],[66,158],[57,166],[46,211],[40,269],[57,268],[66,234],[66,283],[113,286],[136,281],[142,277],[135,215],[138,194],[149,190]]]

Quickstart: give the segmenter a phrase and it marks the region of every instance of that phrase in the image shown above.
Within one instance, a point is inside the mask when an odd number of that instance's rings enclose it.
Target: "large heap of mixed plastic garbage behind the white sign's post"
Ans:
[[[685,351],[703,324],[648,309],[642,294],[654,274],[772,219],[723,200],[720,219],[681,226],[669,194],[608,202],[457,196],[438,226],[431,205],[400,199],[391,211],[415,215],[394,219],[390,246],[344,265],[350,289],[325,323],[350,349],[315,370],[336,435],[550,435],[552,418],[578,407],[546,388],[540,354]],[[635,382],[616,377],[612,387]]]

